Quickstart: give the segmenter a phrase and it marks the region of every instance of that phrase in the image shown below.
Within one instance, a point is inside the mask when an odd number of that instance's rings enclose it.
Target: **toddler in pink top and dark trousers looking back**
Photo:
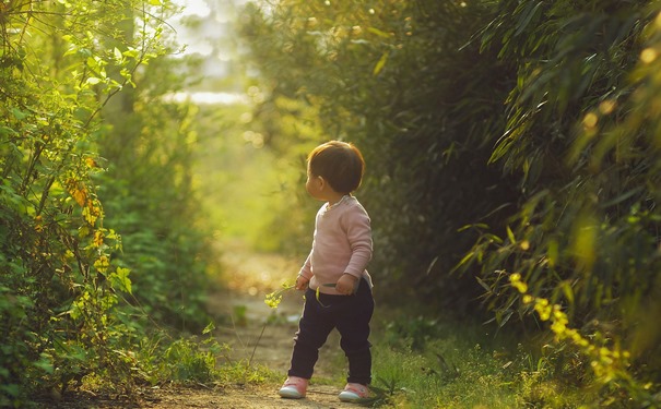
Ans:
[[[349,360],[342,401],[371,397],[369,321],[374,312],[371,277],[365,269],[371,258],[371,228],[365,208],[351,194],[363,179],[365,161],[352,144],[331,141],[307,158],[307,192],[326,202],[315,222],[312,249],[296,278],[306,290],[303,315],[294,337],[284,398],[303,398],[312,376],[319,348],[333,328]]]

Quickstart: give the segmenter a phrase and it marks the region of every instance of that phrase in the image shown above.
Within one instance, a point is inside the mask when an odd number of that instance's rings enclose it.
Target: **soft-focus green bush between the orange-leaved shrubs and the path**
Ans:
[[[135,80],[139,84],[141,81]],[[190,129],[194,110],[158,100],[140,104],[102,142],[108,171],[99,178],[108,222],[122,233],[118,263],[132,270],[144,312],[186,328],[203,324],[206,229],[197,224]],[[119,149],[119,152],[115,152]]]

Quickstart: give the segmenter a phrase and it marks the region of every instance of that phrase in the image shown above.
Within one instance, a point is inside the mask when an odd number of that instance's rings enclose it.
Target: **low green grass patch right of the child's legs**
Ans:
[[[538,358],[534,346],[527,350],[506,335],[488,333],[479,323],[424,317],[377,328],[373,385],[383,396],[379,406],[587,408],[598,401],[593,392],[568,382],[567,363],[559,364],[550,348]]]

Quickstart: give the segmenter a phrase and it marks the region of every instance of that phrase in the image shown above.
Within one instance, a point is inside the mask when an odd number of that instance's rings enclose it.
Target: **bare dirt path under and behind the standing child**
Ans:
[[[333,332],[320,350],[315,376],[304,399],[283,399],[278,395],[293,346],[293,336],[303,308],[303,293],[288,290],[276,310],[268,306],[264,294],[280,289],[285,280],[296,276],[299,261],[279,255],[248,254],[240,246],[226,250],[223,256],[224,290],[210,294],[208,309],[215,318],[219,342],[229,345],[228,359],[245,360],[282,373],[278,383],[234,386],[161,386],[140,390],[137,400],[121,396],[76,392],[42,400],[48,408],[118,409],[118,408],[222,408],[222,409],[285,409],[285,408],[356,408],[341,402],[338,394],[344,386],[344,357],[339,336]]]

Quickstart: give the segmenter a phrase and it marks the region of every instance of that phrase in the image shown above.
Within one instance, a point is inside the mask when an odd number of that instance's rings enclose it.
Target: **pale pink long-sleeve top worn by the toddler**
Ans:
[[[324,204],[317,212],[312,250],[299,275],[309,279],[309,288],[338,296],[334,287],[346,273],[365,278],[371,287],[367,263],[371,260],[371,227],[361,203],[346,195],[333,206]]]

